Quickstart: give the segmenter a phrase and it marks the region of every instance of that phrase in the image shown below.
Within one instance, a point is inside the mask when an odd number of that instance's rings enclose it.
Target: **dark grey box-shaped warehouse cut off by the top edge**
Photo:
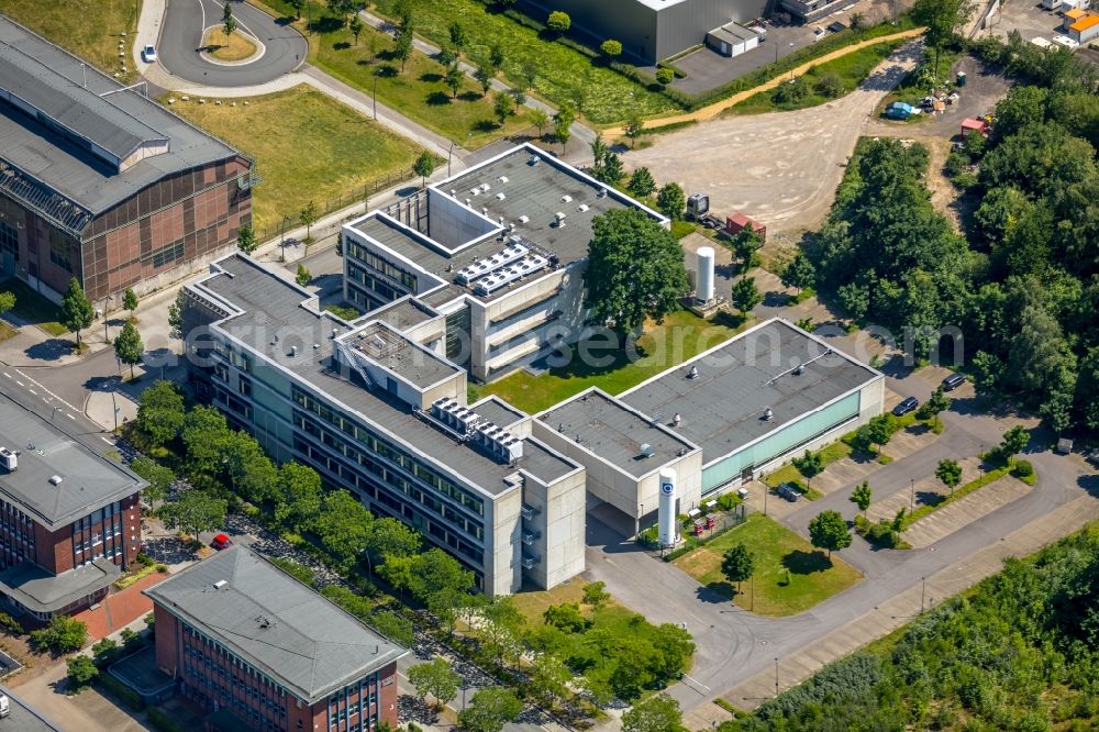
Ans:
[[[703,43],[709,31],[729,22],[763,16],[765,0],[554,0],[529,2],[532,15],[563,10],[595,45],[613,38],[624,54],[654,64]]]

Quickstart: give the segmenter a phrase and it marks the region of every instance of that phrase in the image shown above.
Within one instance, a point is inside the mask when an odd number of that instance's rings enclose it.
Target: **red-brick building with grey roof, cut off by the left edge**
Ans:
[[[0,594],[12,614],[44,622],[102,599],[141,551],[144,486],[0,396]]]

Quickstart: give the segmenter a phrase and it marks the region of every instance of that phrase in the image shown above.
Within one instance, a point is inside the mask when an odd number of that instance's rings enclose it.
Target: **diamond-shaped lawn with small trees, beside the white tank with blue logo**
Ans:
[[[752,581],[734,587],[721,574],[722,555],[743,543],[755,555]],[[828,558],[786,526],[753,514],[714,541],[685,554],[674,564],[688,575],[744,609],[762,615],[792,615],[813,607],[862,579],[837,556]],[[753,601],[753,588],[755,598]]]

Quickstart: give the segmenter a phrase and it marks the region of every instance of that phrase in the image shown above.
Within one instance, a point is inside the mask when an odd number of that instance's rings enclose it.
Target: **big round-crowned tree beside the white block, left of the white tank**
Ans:
[[[592,220],[584,274],[591,314],[624,339],[646,318],[660,320],[687,292],[679,242],[635,209],[615,209]]]

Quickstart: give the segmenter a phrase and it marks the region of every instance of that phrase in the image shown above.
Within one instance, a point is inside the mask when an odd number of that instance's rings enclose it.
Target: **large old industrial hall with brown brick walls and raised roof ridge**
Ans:
[[[0,16],[0,279],[104,311],[231,248],[252,160]],[[113,297],[112,297],[113,296]]]

